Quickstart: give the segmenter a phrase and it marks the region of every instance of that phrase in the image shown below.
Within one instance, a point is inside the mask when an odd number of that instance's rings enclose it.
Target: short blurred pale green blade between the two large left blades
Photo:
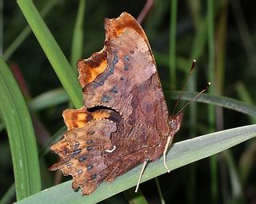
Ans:
[[[68,101],[69,98],[66,91],[60,88],[38,95],[30,101],[29,106],[30,110],[42,110]]]

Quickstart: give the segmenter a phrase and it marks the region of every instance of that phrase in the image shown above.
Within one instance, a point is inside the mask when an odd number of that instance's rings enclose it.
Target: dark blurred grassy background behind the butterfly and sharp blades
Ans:
[[[145,3],[134,0],[34,1],[73,70],[78,58],[89,58],[102,49],[104,18],[117,18],[123,11],[136,18]],[[170,90],[182,89],[194,58],[198,62],[197,69],[186,90],[203,90],[210,81],[210,95],[235,98],[255,106],[255,6],[256,2],[239,0],[154,0],[142,27],[154,52],[170,113],[175,102]],[[17,2],[0,0],[0,11],[0,54],[29,105],[40,155],[42,189],[46,189],[69,179],[48,172],[47,166],[56,161],[54,154],[49,153],[49,146],[61,138],[62,110],[71,106],[71,102],[62,89],[62,79],[55,74]],[[74,103],[74,106],[78,105]],[[0,116],[0,202],[11,203],[16,201],[14,168],[6,126],[3,115]],[[193,102],[185,110],[182,130],[174,142],[255,122],[255,114]],[[162,174],[157,182],[153,179],[144,182],[140,186],[144,196],[137,195],[141,200],[133,198],[134,194],[126,190],[102,203],[255,203],[255,164],[254,138],[170,174]]]

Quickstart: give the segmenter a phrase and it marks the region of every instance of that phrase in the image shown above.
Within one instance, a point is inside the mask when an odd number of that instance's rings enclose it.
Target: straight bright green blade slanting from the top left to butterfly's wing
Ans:
[[[35,37],[42,46],[50,64],[53,66],[55,73],[58,75],[62,86],[66,90],[76,108],[83,106],[82,90],[78,85],[77,76],[74,74],[69,62],[59,48],[54,37],[47,28],[46,23],[43,22],[38,10],[30,0],[18,0],[18,6],[22,10],[26,21],[30,24]]]

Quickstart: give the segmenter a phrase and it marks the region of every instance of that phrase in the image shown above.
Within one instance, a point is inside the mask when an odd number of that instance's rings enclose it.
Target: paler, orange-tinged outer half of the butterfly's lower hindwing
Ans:
[[[64,138],[50,147],[59,154],[60,161],[49,170],[62,170],[64,175],[72,175],[74,189],[81,187],[83,194],[90,194],[104,180],[101,174],[106,169],[103,155],[113,145],[110,134],[117,130],[115,122],[96,119],[82,128],[69,130]]]

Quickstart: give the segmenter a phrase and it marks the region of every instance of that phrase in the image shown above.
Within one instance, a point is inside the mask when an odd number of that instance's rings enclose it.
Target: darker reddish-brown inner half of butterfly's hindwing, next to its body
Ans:
[[[154,135],[154,140],[149,142],[151,135]],[[158,159],[154,155],[162,154],[161,135],[142,124],[135,126],[119,124],[117,132],[111,134],[111,142],[115,146],[113,152],[104,155],[105,163],[108,164],[108,168],[103,172],[107,174],[106,182],[112,182],[144,162],[145,158],[154,161]]]

